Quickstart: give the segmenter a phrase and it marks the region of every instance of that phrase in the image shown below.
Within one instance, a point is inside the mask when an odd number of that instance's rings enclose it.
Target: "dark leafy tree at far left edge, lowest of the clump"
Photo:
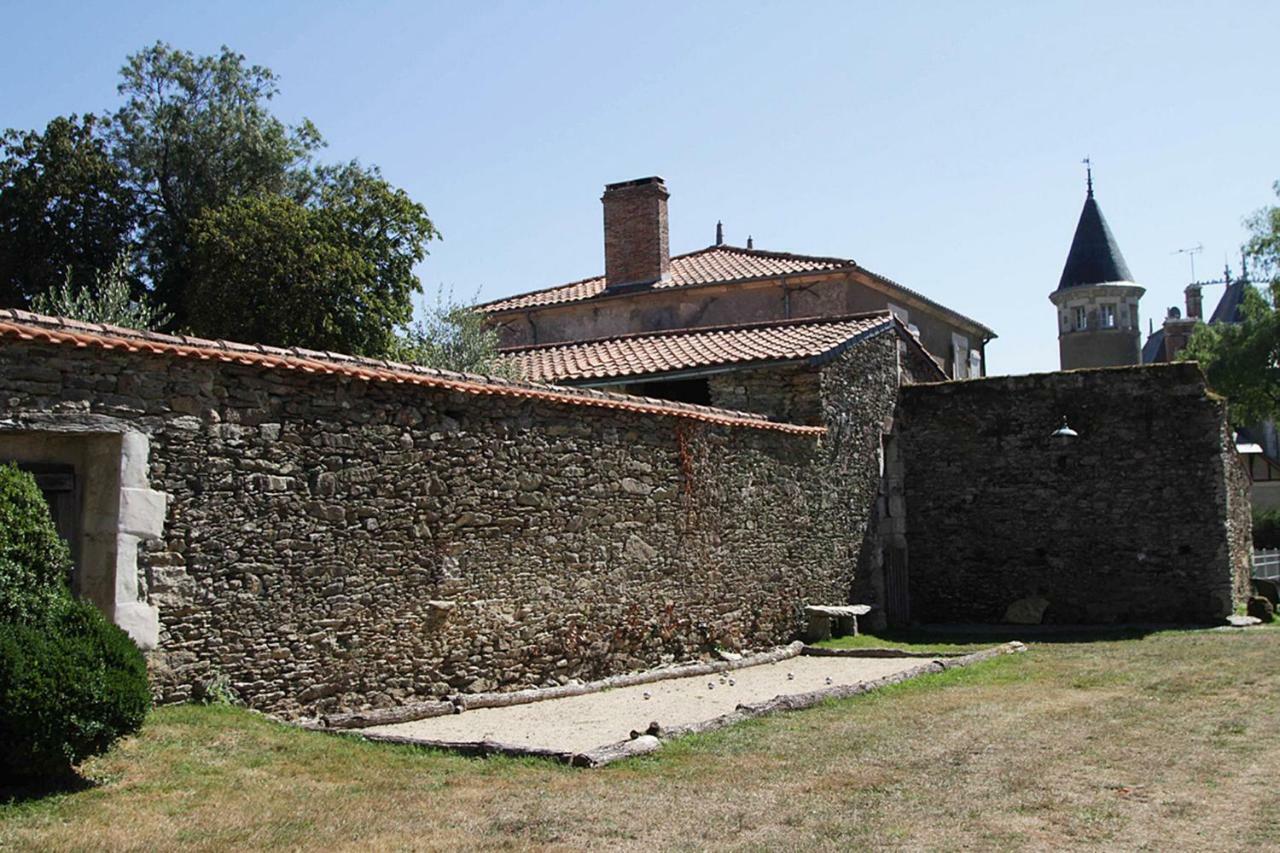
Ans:
[[[129,245],[137,207],[93,115],[0,137],[0,307],[87,284]],[[132,280],[131,287],[137,283]]]

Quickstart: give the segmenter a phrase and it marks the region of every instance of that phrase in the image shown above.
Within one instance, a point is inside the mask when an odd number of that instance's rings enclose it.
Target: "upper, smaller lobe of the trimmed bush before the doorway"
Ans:
[[[67,587],[70,549],[49,517],[36,479],[0,465],[0,620],[38,619]]]

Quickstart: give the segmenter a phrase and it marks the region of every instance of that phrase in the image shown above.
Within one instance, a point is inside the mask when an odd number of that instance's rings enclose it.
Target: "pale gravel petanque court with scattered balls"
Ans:
[[[475,708],[360,731],[375,736],[456,743],[488,740],[585,753],[626,740],[632,731],[644,731],[652,722],[663,729],[703,722],[730,713],[741,703],[872,681],[927,662],[919,657],[801,656],[714,675],[682,676],[502,708]],[[792,678],[787,678],[788,674]]]

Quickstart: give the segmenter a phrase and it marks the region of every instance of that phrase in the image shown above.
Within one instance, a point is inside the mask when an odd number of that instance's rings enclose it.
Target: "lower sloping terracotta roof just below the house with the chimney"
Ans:
[[[704,327],[504,351],[532,382],[586,382],[699,368],[823,359],[892,329],[888,311],[835,319]],[[909,334],[909,333],[906,333]]]

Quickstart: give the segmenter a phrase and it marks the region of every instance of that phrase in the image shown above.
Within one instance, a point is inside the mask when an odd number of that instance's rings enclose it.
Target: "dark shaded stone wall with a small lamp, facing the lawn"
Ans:
[[[1247,585],[1247,483],[1194,364],[908,387],[901,426],[914,620],[1216,620]]]

